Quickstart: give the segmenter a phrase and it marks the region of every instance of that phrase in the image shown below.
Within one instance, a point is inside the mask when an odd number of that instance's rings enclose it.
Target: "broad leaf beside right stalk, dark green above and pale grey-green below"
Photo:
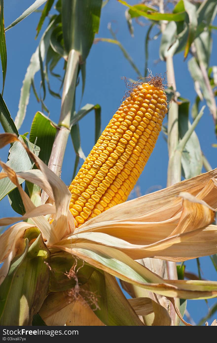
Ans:
[[[190,128],[189,121],[189,100],[183,100],[179,105],[179,137],[183,138],[184,134]],[[190,179],[201,173],[203,167],[203,158],[201,146],[195,131],[191,134],[185,144],[182,152],[182,175],[185,179]]]

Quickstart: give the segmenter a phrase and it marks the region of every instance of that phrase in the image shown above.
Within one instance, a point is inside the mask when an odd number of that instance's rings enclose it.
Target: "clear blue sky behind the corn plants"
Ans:
[[[31,5],[33,0],[16,0],[5,1],[4,3],[4,20],[5,27],[7,27],[13,20],[16,19],[27,7]],[[131,4],[137,3],[135,0],[129,1]],[[100,22],[100,30],[96,37],[112,38],[107,24],[112,22],[113,30],[116,31],[117,39],[123,44],[124,48],[128,51],[129,55],[133,58],[136,66],[142,74],[144,74],[145,65],[145,35],[148,29],[148,22],[143,20],[144,26],[140,26],[134,22],[134,35],[132,38],[129,34],[127,23],[125,20],[125,7],[118,3],[116,0],[110,0],[109,3],[103,8]],[[13,27],[6,33],[7,55],[8,55],[8,68],[4,88],[4,100],[7,104],[13,119],[18,111],[18,103],[20,98],[20,89],[22,81],[26,73],[26,69],[30,62],[31,55],[35,51],[39,38],[35,40],[36,26],[39,20],[39,13],[33,13],[28,16],[24,21]],[[43,29],[46,28],[47,22],[44,24]],[[217,23],[215,23],[217,25]],[[43,31],[42,29],[42,31]],[[151,37],[158,32],[156,28],[153,30]],[[159,59],[159,44],[160,38],[151,40],[149,43],[149,61],[148,68],[152,73],[164,73],[166,71],[165,63],[160,61],[157,64],[156,60]],[[213,52],[211,56],[210,65],[216,64],[216,51],[217,51],[217,31],[213,33]],[[63,63],[60,62],[56,68],[57,73],[63,72]],[[188,98],[191,105],[195,99],[194,84],[187,69],[187,61],[184,61],[183,52],[174,57],[174,69],[176,86],[181,96]],[[91,48],[86,66],[86,84],[81,106],[86,103],[100,104],[102,107],[102,129],[107,125],[121,100],[125,94],[125,83],[122,77],[137,79],[137,75],[128,61],[123,57],[123,54],[118,46],[109,43],[94,44]],[[56,91],[59,89],[59,83],[55,79],[50,79],[52,88]],[[36,74],[35,84],[39,90],[40,75]],[[76,104],[80,104],[81,99],[81,83],[77,88]],[[55,99],[47,93],[45,103],[50,110],[50,118],[58,122],[60,114],[60,100]],[[78,107],[77,107],[78,109]],[[30,103],[27,107],[26,118],[20,129],[20,133],[25,133],[30,130],[32,119],[37,110],[41,110],[39,105],[31,92]],[[2,131],[2,129],[1,129]],[[199,122],[196,133],[198,135],[202,151],[209,160],[213,168],[216,165],[217,150],[212,147],[216,143],[214,132],[214,125],[212,116],[206,106],[204,115]],[[94,113],[88,114],[80,121],[80,134],[82,149],[87,156],[89,151],[94,145]],[[0,158],[7,161],[8,147],[0,151]],[[61,178],[67,185],[70,184],[73,165],[75,161],[75,153],[71,140],[69,138],[64,164],[62,167]],[[80,161],[79,166],[81,166]],[[156,148],[154,149],[141,177],[139,178],[138,185],[142,194],[145,194],[150,187],[153,190],[164,188],[167,182],[167,164],[168,164],[168,150],[167,143],[160,134],[157,141]],[[135,191],[130,194],[130,198],[136,197]],[[1,201],[1,212],[4,216],[13,215],[7,197]],[[207,242],[208,244],[208,242]],[[186,268],[189,271],[197,272],[196,261],[188,261]],[[202,276],[205,279],[217,280],[216,272],[210,259],[208,257],[201,258]],[[209,300],[208,304],[211,306],[216,300]],[[188,301],[187,309],[190,312],[195,322],[198,322],[201,317],[207,313],[207,304],[204,300],[191,300]],[[216,316],[212,317],[214,319]],[[209,320],[211,322],[211,319]]]

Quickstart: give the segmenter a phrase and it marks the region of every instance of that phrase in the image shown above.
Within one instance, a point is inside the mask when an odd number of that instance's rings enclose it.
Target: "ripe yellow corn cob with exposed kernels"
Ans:
[[[161,79],[151,81],[123,101],[69,186],[78,225],[126,201],[148,161],[167,113]]]

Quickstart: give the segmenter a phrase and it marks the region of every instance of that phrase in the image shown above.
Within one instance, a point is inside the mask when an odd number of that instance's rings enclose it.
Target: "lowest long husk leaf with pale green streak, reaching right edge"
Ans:
[[[212,298],[217,295],[217,282],[163,280],[157,274],[130,259],[125,253],[98,244],[77,243],[54,245],[102,269],[121,280],[169,297],[185,299]]]

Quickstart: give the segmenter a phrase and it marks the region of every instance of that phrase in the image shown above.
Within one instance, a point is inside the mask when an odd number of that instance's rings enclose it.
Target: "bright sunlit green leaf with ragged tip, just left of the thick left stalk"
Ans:
[[[37,145],[40,147],[39,157],[45,164],[49,162],[54,144],[57,131],[55,126],[56,124],[41,112],[37,112],[32,121],[30,142],[34,143],[37,138]]]

